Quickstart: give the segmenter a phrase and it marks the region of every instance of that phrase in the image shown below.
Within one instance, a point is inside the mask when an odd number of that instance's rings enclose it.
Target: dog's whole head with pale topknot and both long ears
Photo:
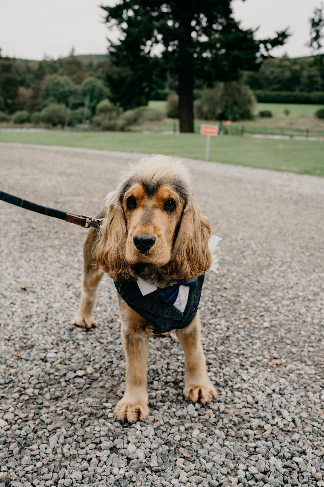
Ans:
[[[212,228],[179,161],[155,155],[131,166],[106,208],[97,265],[115,281],[136,280],[140,263],[163,268],[167,281],[194,279],[210,267]]]

